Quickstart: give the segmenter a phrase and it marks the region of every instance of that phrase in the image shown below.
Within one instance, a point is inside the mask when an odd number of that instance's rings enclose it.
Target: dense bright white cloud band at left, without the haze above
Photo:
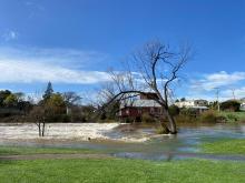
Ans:
[[[0,82],[31,83],[56,82],[91,84],[108,81],[109,75],[99,71],[80,71],[47,63],[0,60]]]

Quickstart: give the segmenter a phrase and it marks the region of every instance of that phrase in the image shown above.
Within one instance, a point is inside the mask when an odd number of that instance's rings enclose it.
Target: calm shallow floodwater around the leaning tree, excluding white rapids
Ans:
[[[156,133],[155,126],[124,124],[107,132],[111,139],[125,136],[148,136]],[[126,143],[117,141],[0,141],[0,145],[23,145],[41,148],[82,148],[99,150],[117,157],[145,160],[179,160],[189,157],[237,160],[245,161],[244,155],[204,154],[199,144],[225,139],[244,139],[245,124],[215,124],[215,125],[180,125],[177,135],[155,135],[149,141]]]

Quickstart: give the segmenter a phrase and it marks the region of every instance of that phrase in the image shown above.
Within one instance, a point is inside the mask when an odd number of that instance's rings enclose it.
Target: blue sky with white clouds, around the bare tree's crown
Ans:
[[[245,1],[0,0],[0,89],[92,95],[134,49],[190,42],[176,96],[245,96]],[[92,94],[91,94],[92,93]]]

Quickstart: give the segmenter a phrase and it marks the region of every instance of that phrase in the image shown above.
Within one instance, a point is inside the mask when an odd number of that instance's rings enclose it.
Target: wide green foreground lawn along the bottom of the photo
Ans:
[[[2,183],[242,183],[245,163],[124,159],[0,161]]]

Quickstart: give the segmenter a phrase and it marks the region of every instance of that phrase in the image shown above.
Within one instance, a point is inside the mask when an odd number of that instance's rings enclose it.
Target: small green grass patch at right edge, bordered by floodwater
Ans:
[[[204,143],[200,145],[206,153],[220,154],[244,154],[245,155],[245,139],[241,140],[223,140],[213,143]]]

